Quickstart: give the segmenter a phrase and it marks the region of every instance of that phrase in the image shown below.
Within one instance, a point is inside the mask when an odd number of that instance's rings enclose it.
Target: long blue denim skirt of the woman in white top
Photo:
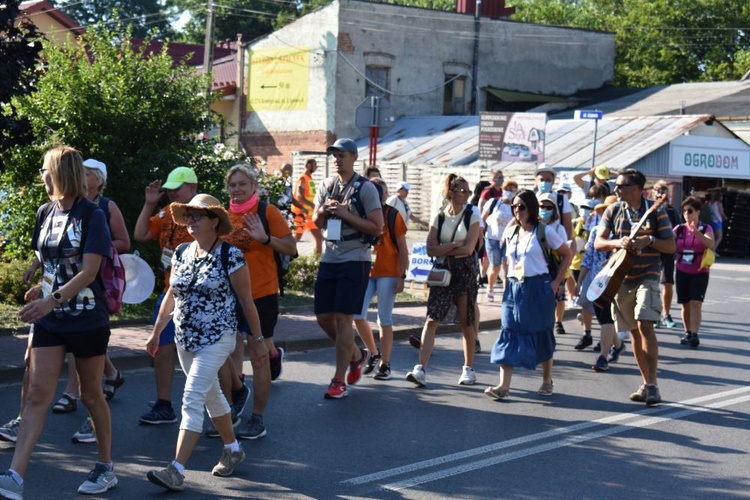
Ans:
[[[555,293],[548,275],[508,279],[503,292],[502,327],[490,361],[533,370],[555,352]]]

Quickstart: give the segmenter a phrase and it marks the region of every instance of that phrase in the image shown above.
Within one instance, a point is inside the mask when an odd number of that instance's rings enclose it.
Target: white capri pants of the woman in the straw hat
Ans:
[[[203,432],[203,406],[210,417],[221,417],[230,412],[229,403],[219,386],[219,368],[236,345],[235,335],[225,333],[218,342],[195,352],[177,346],[177,357],[187,375],[182,395],[180,429]]]

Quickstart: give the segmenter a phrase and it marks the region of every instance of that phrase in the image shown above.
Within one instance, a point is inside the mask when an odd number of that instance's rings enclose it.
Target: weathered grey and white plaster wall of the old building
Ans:
[[[307,109],[252,112],[243,130],[250,142],[263,141],[259,134],[268,136],[264,147],[269,155],[274,148],[281,152],[297,143],[296,150],[318,150],[333,136],[362,137],[354,121],[355,109],[365,98],[368,64],[391,68],[394,118],[442,115],[447,74],[467,75],[467,109],[472,97],[470,15],[334,0],[251,49],[288,46],[310,50]],[[569,95],[612,81],[614,54],[610,33],[482,19],[477,80],[480,87]],[[480,94],[480,109],[484,102]],[[304,132],[314,132],[313,144],[298,137]]]

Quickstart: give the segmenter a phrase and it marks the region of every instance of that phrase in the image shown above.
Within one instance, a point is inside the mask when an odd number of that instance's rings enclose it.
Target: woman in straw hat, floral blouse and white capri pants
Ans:
[[[174,204],[172,217],[175,224],[187,226],[195,241],[175,250],[170,288],[146,349],[156,355],[159,334],[173,317],[177,356],[187,380],[175,458],[165,469],[149,471],[148,479],[169,490],[181,491],[185,464],[203,430],[204,406],[224,442],[213,474],[229,476],[245,459],[234,435],[229,403],[221,392],[218,377],[219,368],[235,347],[237,303],[252,331],[258,332],[256,337],[262,339],[262,336],[242,252],[221,241],[221,236],[232,230],[227,211],[213,196],[197,194],[187,204]]]

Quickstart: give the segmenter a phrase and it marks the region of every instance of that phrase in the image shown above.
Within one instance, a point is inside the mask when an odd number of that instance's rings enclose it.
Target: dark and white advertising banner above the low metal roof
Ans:
[[[544,161],[546,113],[481,113],[479,159]]]

